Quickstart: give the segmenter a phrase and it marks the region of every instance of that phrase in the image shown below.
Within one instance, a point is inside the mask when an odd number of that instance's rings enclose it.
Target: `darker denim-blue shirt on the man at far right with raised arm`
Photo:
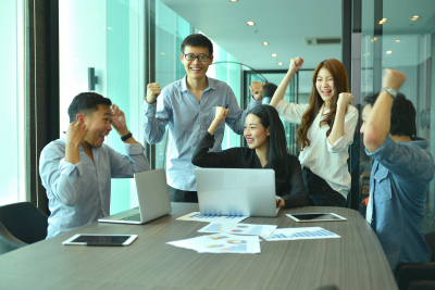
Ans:
[[[426,189],[434,177],[428,141],[395,142],[389,135],[373,153],[366,220],[384,249],[389,266],[431,261],[422,222]]]

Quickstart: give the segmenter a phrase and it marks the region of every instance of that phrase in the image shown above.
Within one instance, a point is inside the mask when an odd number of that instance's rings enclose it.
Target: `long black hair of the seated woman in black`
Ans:
[[[270,130],[268,165],[265,168],[274,169],[276,178],[287,179],[289,176],[287,141],[278,112],[272,105],[262,104],[253,108],[248,114],[256,115],[260,118],[260,123],[264,129],[269,128]]]

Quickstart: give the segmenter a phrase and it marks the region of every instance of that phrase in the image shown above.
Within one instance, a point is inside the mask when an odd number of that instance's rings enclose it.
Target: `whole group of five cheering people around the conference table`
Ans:
[[[308,104],[284,101],[293,76],[303,64],[290,62],[270,105],[261,104],[263,85],[250,86],[251,101],[241,110],[229,86],[209,78],[212,42],[190,35],[182,43],[186,76],[162,90],[147,85],[144,136],[162,140],[169,127],[166,177],[171,201],[198,202],[195,168],[273,168],[276,206],[346,206],[351,177],[348,148],[353,142],[358,110],[350,103],[347,73],[334,59],[322,61],[312,78]],[[362,112],[365,152],[374,159],[366,220],[376,232],[393,268],[398,263],[427,262],[422,219],[425,190],[434,176],[428,141],[415,137],[415,109],[399,88],[402,73],[385,70],[383,89],[365,98]],[[148,171],[144,147],[126,126],[124,113],[98,93],[84,92],[70,108],[70,126],[40,156],[40,177],[47,189],[48,235],[53,237],[110,215],[110,179],[132,178]],[[299,160],[287,153],[283,123],[300,124]],[[248,148],[222,151],[225,124],[244,135]],[[104,143],[111,129],[126,154]]]

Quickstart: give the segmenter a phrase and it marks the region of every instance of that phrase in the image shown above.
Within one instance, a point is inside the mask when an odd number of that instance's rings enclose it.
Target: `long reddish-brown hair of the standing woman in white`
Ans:
[[[315,88],[315,83],[318,80],[318,74],[319,71],[322,68],[326,68],[330,74],[334,78],[334,87],[335,87],[335,92],[334,96],[331,100],[331,108],[330,108],[330,113],[322,118],[321,121],[321,126],[324,124],[327,124],[330,126],[330,129],[326,131],[326,137],[330,136],[331,130],[333,129],[334,126],[334,121],[335,121],[335,114],[337,111],[337,100],[338,100],[338,94],[341,92],[349,92],[349,86],[348,86],[348,80],[347,80],[347,73],[346,68],[343,65],[341,62],[335,60],[335,59],[330,59],[326,61],[321,62],[318,67],[314,71],[312,83],[313,87],[311,89],[311,94],[310,94],[310,102],[307,112],[302,116],[302,122],[299,125],[296,135],[298,137],[299,144],[301,147],[301,150],[303,150],[304,147],[310,146],[311,140],[308,139],[307,134],[308,129],[310,129],[312,123],[314,122],[315,116],[318,115],[320,109],[322,108],[323,101],[322,97],[320,97],[318,89]]]

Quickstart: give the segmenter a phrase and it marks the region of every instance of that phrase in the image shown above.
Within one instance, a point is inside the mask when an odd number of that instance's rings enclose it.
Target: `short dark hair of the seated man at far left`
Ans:
[[[69,106],[70,123],[76,121],[77,114],[91,117],[98,111],[98,105],[111,105],[112,101],[96,92],[80,92],[74,97]]]

